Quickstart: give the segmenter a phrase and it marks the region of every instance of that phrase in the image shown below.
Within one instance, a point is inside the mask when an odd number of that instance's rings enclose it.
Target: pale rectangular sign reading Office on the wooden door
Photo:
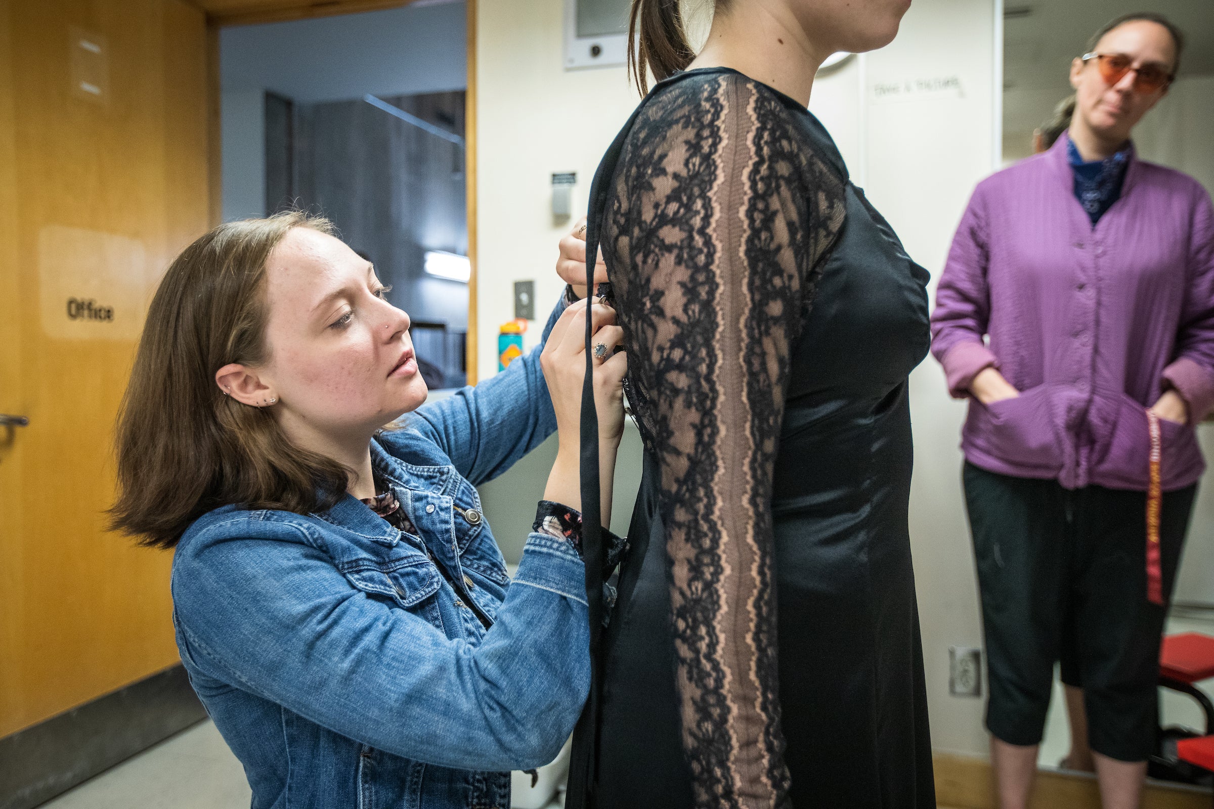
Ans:
[[[61,224],[38,234],[38,279],[55,340],[137,340],[155,280],[142,241]]]

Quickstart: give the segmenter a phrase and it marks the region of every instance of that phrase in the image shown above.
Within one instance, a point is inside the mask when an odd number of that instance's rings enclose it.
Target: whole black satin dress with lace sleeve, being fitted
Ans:
[[[568,805],[935,807],[927,273],[817,119],[733,70],[654,87],[591,196],[645,471]]]

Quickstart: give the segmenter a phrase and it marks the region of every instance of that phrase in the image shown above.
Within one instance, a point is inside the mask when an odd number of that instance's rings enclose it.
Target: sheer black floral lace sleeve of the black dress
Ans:
[[[788,805],[772,468],[843,188],[775,93],[714,74],[647,101],[603,220],[629,398],[662,471],[697,807]]]

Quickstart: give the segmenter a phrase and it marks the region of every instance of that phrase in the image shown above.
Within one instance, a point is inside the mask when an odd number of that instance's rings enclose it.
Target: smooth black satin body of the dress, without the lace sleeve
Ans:
[[[800,114],[804,137],[846,178],[829,135]],[[778,693],[798,809],[936,805],[907,528],[907,377],[930,342],[926,281],[847,181],[846,221],[793,351],[771,502]],[[660,522],[647,451],[603,638],[595,809],[694,803]]]

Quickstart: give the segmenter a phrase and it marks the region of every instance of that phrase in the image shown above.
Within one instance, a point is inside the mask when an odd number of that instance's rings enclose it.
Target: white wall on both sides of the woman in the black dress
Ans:
[[[819,79],[810,101],[856,182],[934,277],[974,184],[994,165],[994,8],[995,0],[917,0],[891,46]],[[549,213],[550,173],[578,172],[574,210],[584,210],[599,159],[637,101],[624,68],[563,70],[561,13],[561,0],[494,0],[478,8],[482,378],[497,370],[495,335],[512,314],[512,281],[535,279],[543,304],[562,287],[552,264],[568,224]],[[952,79],[932,89],[934,80]],[[910,91],[896,101],[874,90],[906,82]],[[932,741],[985,754],[982,701],[948,696],[948,646],[982,639],[957,449],[964,405],[948,399],[932,359],[912,375],[910,397],[910,534]]]

